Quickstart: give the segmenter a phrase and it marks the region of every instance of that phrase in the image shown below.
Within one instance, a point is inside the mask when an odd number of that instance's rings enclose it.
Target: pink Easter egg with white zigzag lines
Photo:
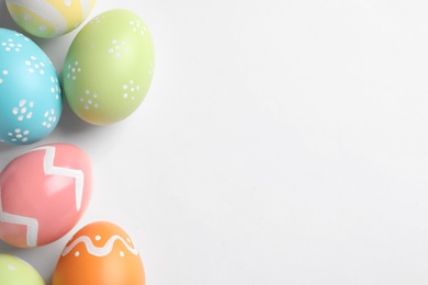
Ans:
[[[91,163],[80,148],[30,150],[0,173],[0,239],[31,248],[61,238],[86,212],[91,191]]]

